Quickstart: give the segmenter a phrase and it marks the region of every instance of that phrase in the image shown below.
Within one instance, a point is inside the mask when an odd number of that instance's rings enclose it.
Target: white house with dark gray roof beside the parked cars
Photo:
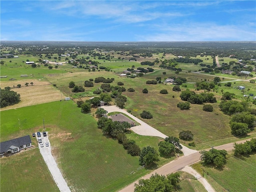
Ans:
[[[29,135],[4,141],[0,143],[0,156],[10,156],[30,147],[32,147],[32,142]]]

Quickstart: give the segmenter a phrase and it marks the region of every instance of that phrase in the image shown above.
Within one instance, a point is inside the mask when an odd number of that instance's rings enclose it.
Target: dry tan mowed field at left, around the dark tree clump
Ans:
[[[33,82],[34,84],[29,84],[25,86],[25,83]],[[17,88],[17,84],[21,84],[21,88]],[[25,106],[31,106],[36,104],[48,103],[52,101],[58,101],[61,99],[61,92],[54,88],[49,82],[39,81],[35,79],[26,79],[19,81],[8,81],[1,82],[1,88],[11,87],[13,91],[20,94],[21,102],[18,104],[7,106],[5,108],[1,108],[0,110],[9,110],[14,108],[21,108]],[[15,86],[15,88],[13,88]],[[65,96],[62,96],[64,98]]]

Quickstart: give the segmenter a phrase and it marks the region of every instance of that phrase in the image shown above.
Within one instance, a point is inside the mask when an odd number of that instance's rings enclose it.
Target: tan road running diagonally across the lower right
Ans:
[[[243,143],[243,142],[246,142],[246,140],[238,141],[237,143]],[[233,144],[234,143],[224,144],[224,145],[216,146],[214,148],[216,148],[218,150],[223,150],[224,149],[224,150],[227,150],[227,151],[231,151],[234,148]],[[158,173],[160,175],[167,175],[167,174],[176,172],[178,170],[182,170],[185,166],[191,165],[192,163],[196,163],[198,161],[200,161],[199,152],[190,154],[188,156],[182,156],[182,157],[177,158],[177,159],[171,161],[170,163],[162,166],[158,170],[154,170],[150,174],[147,174],[146,176],[144,176],[140,179],[148,179],[148,178],[150,178],[150,176],[152,174],[155,174],[155,173]],[[126,186],[125,188],[123,188],[119,192],[133,192],[135,183],[138,183],[138,180],[136,182],[133,182],[132,184]]]

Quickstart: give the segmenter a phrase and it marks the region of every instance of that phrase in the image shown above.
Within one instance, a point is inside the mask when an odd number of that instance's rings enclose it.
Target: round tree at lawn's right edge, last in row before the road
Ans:
[[[143,147],[140,153],[139,163],[140,165],[148,166],[152,162],[157,161],[158,156],[159,154],[154,147]]]

